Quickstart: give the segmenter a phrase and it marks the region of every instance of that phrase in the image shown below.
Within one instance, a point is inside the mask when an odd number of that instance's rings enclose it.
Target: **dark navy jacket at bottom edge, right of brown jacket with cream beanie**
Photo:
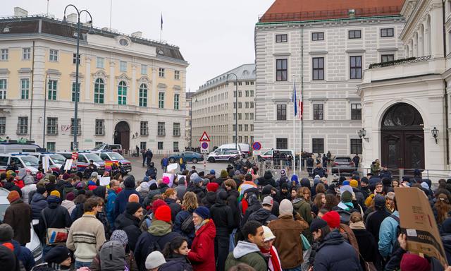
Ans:
[[[345,242],[340,231],[331,231],[319,243],[314,271],[360,271],[360,268],[354,248]]]

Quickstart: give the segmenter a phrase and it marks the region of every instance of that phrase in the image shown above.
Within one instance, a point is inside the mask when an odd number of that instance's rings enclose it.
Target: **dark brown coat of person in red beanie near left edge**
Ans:
[[[23,200],[15,200],[5,211],[3,222],[14,230],[14,240],[21,245],[30,242],[30,227],[32,222],[31,207]]]

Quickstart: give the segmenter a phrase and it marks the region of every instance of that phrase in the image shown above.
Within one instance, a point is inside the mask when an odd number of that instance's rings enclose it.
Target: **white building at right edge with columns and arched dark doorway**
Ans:
[[[445,8],[445,9],[443,9]],[[364,71],[358,95],[366,131],[365,167],[378,158],[393,169],[450,170],[451,1],[406,0],[398,36],[405,59]]]

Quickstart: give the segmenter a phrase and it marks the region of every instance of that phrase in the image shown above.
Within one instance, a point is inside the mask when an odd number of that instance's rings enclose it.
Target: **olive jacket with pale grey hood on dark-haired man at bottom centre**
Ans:
[[[240,263],[252,266],[256,271],[268,271],[268,260],[254,243],[238,241],[237,246],[227,256],[226,270]]]

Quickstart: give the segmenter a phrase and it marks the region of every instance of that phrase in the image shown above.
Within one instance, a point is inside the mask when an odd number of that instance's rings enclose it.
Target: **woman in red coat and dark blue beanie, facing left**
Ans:
[[[213,220],[209,219],[209,217],[210,212],[204,206],[197,207],[192,213],[196,234],[187,257],[191,261],[194,271],[216,270],[215,255],[211,253],[214,251],[216,227]]]

